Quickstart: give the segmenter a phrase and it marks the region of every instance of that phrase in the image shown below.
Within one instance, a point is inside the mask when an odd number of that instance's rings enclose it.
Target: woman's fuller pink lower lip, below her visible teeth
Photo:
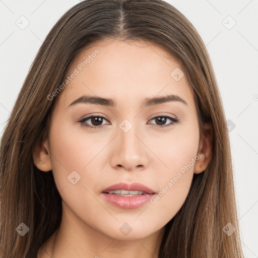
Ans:
[[[118,196],[102,192],[101,196],[110,204],[122,209],[136,209],[148,203],[155,193],[146,193],[139,196]]]

